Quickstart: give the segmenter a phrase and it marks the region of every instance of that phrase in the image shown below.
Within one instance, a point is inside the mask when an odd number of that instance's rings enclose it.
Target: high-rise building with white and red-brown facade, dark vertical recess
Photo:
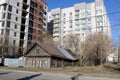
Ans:
[[[47,26],[47,4],[44,0],[0,0],[1,53],[23,54]]]

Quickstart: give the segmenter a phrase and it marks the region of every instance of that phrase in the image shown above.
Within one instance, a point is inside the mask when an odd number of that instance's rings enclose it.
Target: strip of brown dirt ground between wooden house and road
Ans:
[[[120,78],[120,63],[106,63],[102,66],[89,67],[64,67],[64,68],[25,68],[25,67],[0,67],[0,69],[32,71],[32,72],[52,72],[66,74],[80,74],[83,76]],[[117,70],[118,69],[118,70]]]

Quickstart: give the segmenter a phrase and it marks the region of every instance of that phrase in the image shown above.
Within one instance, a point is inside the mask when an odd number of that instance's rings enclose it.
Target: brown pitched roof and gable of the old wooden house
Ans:
[[[34,49],[39,47],[42,50],[42,54],[36,54],[36,52],[32,52]],[[27,52],[26,52],[27,57],[47,57],[47,56],[55,56],[59,58],[64,58],[67,59],[65,55],[63,55],[57,48],[54,46],[50,46],[44,43],[35,43]]]

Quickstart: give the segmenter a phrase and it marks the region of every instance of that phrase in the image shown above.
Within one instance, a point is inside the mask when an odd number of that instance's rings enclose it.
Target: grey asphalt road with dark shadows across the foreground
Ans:
[[[0,80],[75,80],[73,75],[50,72],[28,72],[0,69]],[[78,80],[120,80],[113,78],[79,76]]]

